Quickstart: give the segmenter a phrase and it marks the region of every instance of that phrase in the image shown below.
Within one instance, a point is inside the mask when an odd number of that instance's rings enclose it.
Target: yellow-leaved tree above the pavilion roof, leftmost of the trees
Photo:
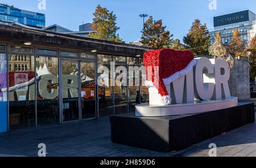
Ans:
[[[93,16],[92,29],[95,32],[91,32],[88,37],[123,42],[117,33],[120,28],[115,23],[117,16],[113,14],[113,11],[110,12],[107,8],[98,5]]]

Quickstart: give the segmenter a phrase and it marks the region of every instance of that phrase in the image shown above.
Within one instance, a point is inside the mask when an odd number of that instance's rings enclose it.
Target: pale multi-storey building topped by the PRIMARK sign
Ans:
[[[240,32],[241,39],[246,45],[255,36],[255,14],[249,10],[217,16],[213,20],[214,28],[209,32],[210,44],[213,44],[218,31],[221,33],[223,44],[229,44],[232,41],[235,28]]]

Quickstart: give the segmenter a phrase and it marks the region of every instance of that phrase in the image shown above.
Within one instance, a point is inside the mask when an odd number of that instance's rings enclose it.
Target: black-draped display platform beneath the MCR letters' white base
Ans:
[[[174,152],[255,122],[254,104],[193,115],[139,118],[110,117],[113,143],[159,152]]]

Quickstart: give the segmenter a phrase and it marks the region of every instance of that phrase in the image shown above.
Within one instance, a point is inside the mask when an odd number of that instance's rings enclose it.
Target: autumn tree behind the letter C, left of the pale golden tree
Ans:
[[[184,44],[191,48],[191,51],[197,55],[208,55],[208,46],[210,44],[209,31],[206,24],[201,24],[199,19],[196,19],[187,36],[183,38]]]

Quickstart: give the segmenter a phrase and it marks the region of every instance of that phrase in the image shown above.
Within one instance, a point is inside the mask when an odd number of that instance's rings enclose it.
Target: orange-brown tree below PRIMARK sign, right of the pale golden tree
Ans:
[[[234,29],[233,38],[230,44],[227,46],[228,53],[233,56],[245,56],[245,43],[242,42],[240,33],[237,29]]]

